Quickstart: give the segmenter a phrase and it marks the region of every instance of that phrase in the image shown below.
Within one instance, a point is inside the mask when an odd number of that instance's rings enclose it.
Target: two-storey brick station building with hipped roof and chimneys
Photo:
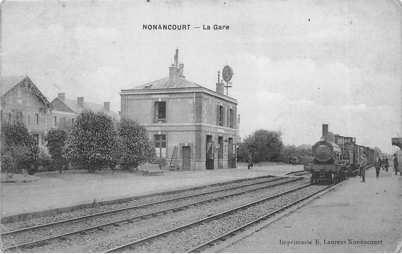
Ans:
[[[183,68],[176,49],[168,77],[121,90],[121,116],[148,130],[169,170],[235,168],[237,100],[224,95],[219,76],[212,91],[185,79]]]

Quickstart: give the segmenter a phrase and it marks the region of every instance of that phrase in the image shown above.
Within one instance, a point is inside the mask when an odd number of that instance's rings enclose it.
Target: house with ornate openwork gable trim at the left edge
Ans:
[[[0,88],[1,121],[24,122],[46,152],[43,136],[51,128],[51,103],[28,76],[1,77]]]

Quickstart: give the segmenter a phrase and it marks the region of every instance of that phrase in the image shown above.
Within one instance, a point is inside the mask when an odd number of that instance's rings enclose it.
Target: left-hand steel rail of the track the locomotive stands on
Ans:
[[[222,212],[222,213],[218,213],[218,214],[215,214],[215,215],[206,217],[206,218],[204,218],[204,219],[200,219],[200,220],[191,222],[191,223],[186,224],[186,225],[184,225],[184,226],[180,226],[180,227],[174,228],[174,229],[172,229],[172,230],[164,231],[164,232],[162,232],[162,233],[160,233],[160,234],[155,234],[155,235],[152,235],[152,236],[148,236],[148,237],[146,237],[146,238],[142,238],[142,239],[136,240],[136,241],[134,241],[134,242],[130,242],[130,243],[128,243],[128,244],[123,244],[123,245],[121,245],[121,246],[118,246],[118,247],[115,247],[115,248],[113,248],[113,249],[107,250],[107,251],[105,251],[105,252],[103,252],[103,253],[115,253],[115,252],[122,252],[122,251],[125,251],[125,250],[130,250],[131,248],[133,248],[133,247],[135,247],[135,246],[140,246],[140,245],[142,245],[142,244],[146,244],[146,243],[152,242],[153,240],[156,240],[156,239],[159,239],[159,238],[162,238],[162,237],[166,237],[167,235],[172,234],[172,233],[174,233],[174,232],[181,232],[181,231],[183,231],[183,230],[187,230],[187,229],[192,228],[192,227],[194,227],[194,226],[197,226],[197,225],[199,225],[199,224],[201,224],[201,223],[206,223],[206,222],[212,221],[212,220],[214,220],[214,219],[219,219],[220,217],[223,217],[223,216],[225,216],[225,215],[234,213],[234,212],[236,212],[236,211],[238,211],[238,210],[246,209],[247,207],[250,207],[250,206],[252,206],[252,205],[256,205],[256,204],[258,204],[258,203],[267,201],[267,200],[269,200],[269,199],[273,199],[273,198],[275,198],[275,197],[279,197],[279,196],[281,196],[281,195],[284,195],[284,194],[287,194],[287,193],[291,193],[291,192],[293,192],[293,191],[297,191],[297,190],[299,190],[299,189],[308,187],[308,186],[310,186],[310,185],[312,185],[312,184],[309,183],[309,184],[307,184],[307,185],[303,185],[303,186],[297,187],[297,188],[295,188],[295,189],[291,189],[291,190],[289,190],[289,191],[284,191],[284,192],[282,192],[282,193],[273,195],[273,196],[271,196],[271,197],[266,197],[266,198],[263,198],[263,199],[260,199],[260,200],[257,200],[257,201],[248,203],[248,204],[246,204],[246,205],[242,205],[242,206],[240,206],[240,207],[236,207],[236,208],[234,208],[234,209],[230,209],[230,210],[228,210],[228,211],[224,211],[224,212]]]

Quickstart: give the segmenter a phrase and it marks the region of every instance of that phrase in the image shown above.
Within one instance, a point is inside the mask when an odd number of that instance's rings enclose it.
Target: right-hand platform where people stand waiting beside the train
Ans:
[[[208,252],[401,252],[402,176],[375,169]],[[324,191],[325,192],[325,191]],[[289,209],[291,210],[291,209]]]

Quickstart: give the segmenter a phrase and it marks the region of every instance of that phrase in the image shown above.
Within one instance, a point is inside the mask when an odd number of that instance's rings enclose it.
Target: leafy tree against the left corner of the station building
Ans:
[[[121,140],[121,165],[125,169],[157,160],[146,128],[129,118],[122,118],[117,131]],[[163,165],[161,159],[157,162]]]

